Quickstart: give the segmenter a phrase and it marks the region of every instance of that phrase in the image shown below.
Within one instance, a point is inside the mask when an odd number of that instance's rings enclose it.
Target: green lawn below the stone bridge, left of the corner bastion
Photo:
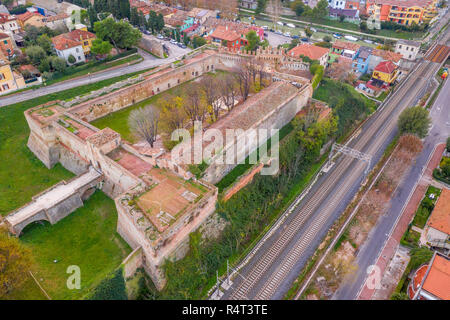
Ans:
[[[52,299],[82,298],[131,252],[117,234],[116,223],[114,201],[97,191],[84,207],[57,224],[33,224],[25,228],[20,239],[33,252],[33,274]],[[79,290],[66,286],[69,277],[66,270],[71,265],[81,270]],[[38,293],[36,298],[42,296]],[[34,298],[23,289],[13,296]]]

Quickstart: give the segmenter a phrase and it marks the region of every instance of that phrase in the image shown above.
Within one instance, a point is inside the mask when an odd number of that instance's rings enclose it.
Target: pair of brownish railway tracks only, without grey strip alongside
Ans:
[[[368,153],[375,153],[386,140],[390,134],[389,130],[384,130],[385,127],[392,128],[395,126],[395,122],[398,114],[403,110],[399,107],[400,102],[406,100],[404,106],[408,106],[413,103],[415,94],[409,94],[414,88],[421,87],[426,81],[424,77],[429,73],[429,66],[432,63],[423,62],[414,71],[414,76],[417,80],[405,83],[404,86],[398,89],[398,92],[391,97],[389,104],[386,104],[384,110],[380,110],[377,118],[374,120],[366,131],[360,134],[359,139],[355,142],[353,148],[363,151],[368,149]],[[417,85],[417,81],[421,82]],[[378,137],[377,137],[378,136]],[[374,143],[370,144],[371,140],[375,139]],[[350,167],[351,163],[355,162],[355,165]],[[341,181],[339,190],[334,194],[329,194],[329,191],[339,183],[343,174],[350,170],[350,176],[346,176],[347,179]],[[246,277],[241,283],[234,288],[230,294],[229,299],[270,299],[286,276],[291,272],[294,265],[299,261],[300,257],[305,253],[305,250],[309,247],[312,240],[318,235],[320,229],[324,226],[326,221],[333,214],[333,211],[337,208],[340,199],[343,198],[345,192],[349,190],[351,185],[356,179],[362,175],[364,166],[357,160],[350,158],[343,158],[334,170],[329,173],[328,178],[323,181],[318,191],[314,194],[308,202],[304,204],[301,209],[295,209],[294,217],[289,222],[282,233],[274,240],[272,245],[262,254],[258,261],[255,261],[251,270],[247,272]],[[327,201],[327,197],[330,197]],[[301,202],[300,202],[301,203]],[[309,221],[308,218],[312,217],[313,213],[320,209],[322,204],[326,203],[326,210],[321,210],[319,214],[314,217],[313,221]],[[308,226],[305,223],[310,222]],[[306,226],[302,236],[295,240],[294,238],[301,229]],[[270,272],[270,268],[274,266],[274,263],[278,266],[275,271]],[[258,282],[265,277],[267,280],[263,283],[259,290],[255,289]],[[256,291],[254,295],[250,294],[251,291]],[[250,296],[251,295],[251,296]]]

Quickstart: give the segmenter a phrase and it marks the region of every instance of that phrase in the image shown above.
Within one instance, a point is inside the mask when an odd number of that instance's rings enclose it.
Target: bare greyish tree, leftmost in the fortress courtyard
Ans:
[[[153,106],[133,110],[128,117],[131,133],[147,141],[152,148],[158,134],[158,123],[159,112]]]

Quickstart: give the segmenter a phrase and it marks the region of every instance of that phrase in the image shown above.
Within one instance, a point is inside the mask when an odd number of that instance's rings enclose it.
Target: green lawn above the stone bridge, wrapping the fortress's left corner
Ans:
[[[29,202],[33,195],[73,176],[59,164],[48,170],[27,148],[29,129],[23,112],[51,100],[68,99],[98,90],[132,75],[123,75],[0,108],[2,124],[0,126],[0,158],[2,159],[0,215],[8,214]]]

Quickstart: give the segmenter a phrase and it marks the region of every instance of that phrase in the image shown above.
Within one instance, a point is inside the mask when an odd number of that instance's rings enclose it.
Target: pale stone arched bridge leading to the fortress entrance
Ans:
[[[32,222],[45,220],[55,224],[83,206],[83,201],[94,193],[103,175],[92,167],[76,178],[61,181],[33,197],[25,206],[5,217],[11,233],[19,236],[23,228]]]

